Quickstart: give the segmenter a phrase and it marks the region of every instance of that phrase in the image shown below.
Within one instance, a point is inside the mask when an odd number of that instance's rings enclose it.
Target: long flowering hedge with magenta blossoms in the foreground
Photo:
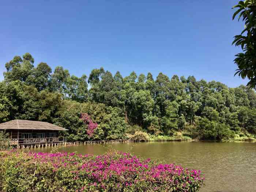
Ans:
[[[199,170],[156,164],[129,153],[0,152],[0,191],[196,192]]]

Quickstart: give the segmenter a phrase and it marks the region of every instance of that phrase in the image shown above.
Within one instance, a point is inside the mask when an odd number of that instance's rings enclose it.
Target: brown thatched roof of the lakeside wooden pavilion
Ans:
[[[30,129],[68,131],[68,129],[42,121],[12,120],[0,124],[0,129]]]

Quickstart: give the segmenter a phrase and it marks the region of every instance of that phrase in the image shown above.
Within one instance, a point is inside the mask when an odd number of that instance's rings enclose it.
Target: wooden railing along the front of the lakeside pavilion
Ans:
[[[64,141],[63,139],[59,139],[59,138],[10,139],[10,144],[17,145],[17,144],[58,143],[63,141]]]

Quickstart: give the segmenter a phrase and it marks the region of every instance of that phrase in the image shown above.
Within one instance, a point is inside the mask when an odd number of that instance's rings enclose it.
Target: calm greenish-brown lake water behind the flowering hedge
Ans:
[[[135,155],[178,163],[200,169],[205,174],[206,186],[200,192],[256,192],[256,143],[213,142],[147,142],[112,144],[116,150]],[[34,151],[49,152],[52,148]],[[99,155],[107,146],[62,147],[60,152]]]

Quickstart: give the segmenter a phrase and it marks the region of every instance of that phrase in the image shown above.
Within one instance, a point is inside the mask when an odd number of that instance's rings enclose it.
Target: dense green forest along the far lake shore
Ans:
[[[256,93],[241,85],[169,78],[159,73],[123,77],[104,68],[89,77],[29,53],[5,64],[0,82],[0,123],[25,119],[67,128],[68,140],[230,140],[255,138]]]

